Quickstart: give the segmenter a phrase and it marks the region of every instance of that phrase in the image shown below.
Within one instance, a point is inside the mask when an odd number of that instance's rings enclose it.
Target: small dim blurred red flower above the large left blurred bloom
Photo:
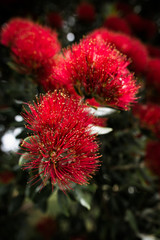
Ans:
[[[47,22],[55,28],[61,28],[63,25],[63,19],[58,12],[49,12],[46,16]]]

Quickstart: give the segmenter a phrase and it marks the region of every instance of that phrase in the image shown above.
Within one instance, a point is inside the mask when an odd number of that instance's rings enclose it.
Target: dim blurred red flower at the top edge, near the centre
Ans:
[[[91,3],[82,2],[77,6],[76,14],[82,21],[93,22],[95,19],[95,8]]]

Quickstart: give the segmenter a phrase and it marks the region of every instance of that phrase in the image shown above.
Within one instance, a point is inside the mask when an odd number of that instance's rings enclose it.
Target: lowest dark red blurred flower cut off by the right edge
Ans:
[[[150,170],[160,176],[160,142],[150,141],[146,146],[145,163]]]

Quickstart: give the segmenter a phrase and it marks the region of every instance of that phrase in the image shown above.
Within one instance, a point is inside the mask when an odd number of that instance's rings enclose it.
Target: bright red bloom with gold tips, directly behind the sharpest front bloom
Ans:
[[[68,79],[80,96],[128,109],[139,89],[128,65],[126,57],[102,39],[86,38],[64,51],[64,60],[53,77]]]

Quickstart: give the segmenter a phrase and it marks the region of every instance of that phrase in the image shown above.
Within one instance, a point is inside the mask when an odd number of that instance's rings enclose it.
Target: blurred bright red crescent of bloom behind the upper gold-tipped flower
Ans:
[[[109,31],[105,28],[96,29],[89,35],[91,38],[103,39],[110,42],[122,53],[131,59],[130,69],[135,73],[144,73],[147,68],[148,53],[146,47],[137,38],[129,37],[123,33]]]

